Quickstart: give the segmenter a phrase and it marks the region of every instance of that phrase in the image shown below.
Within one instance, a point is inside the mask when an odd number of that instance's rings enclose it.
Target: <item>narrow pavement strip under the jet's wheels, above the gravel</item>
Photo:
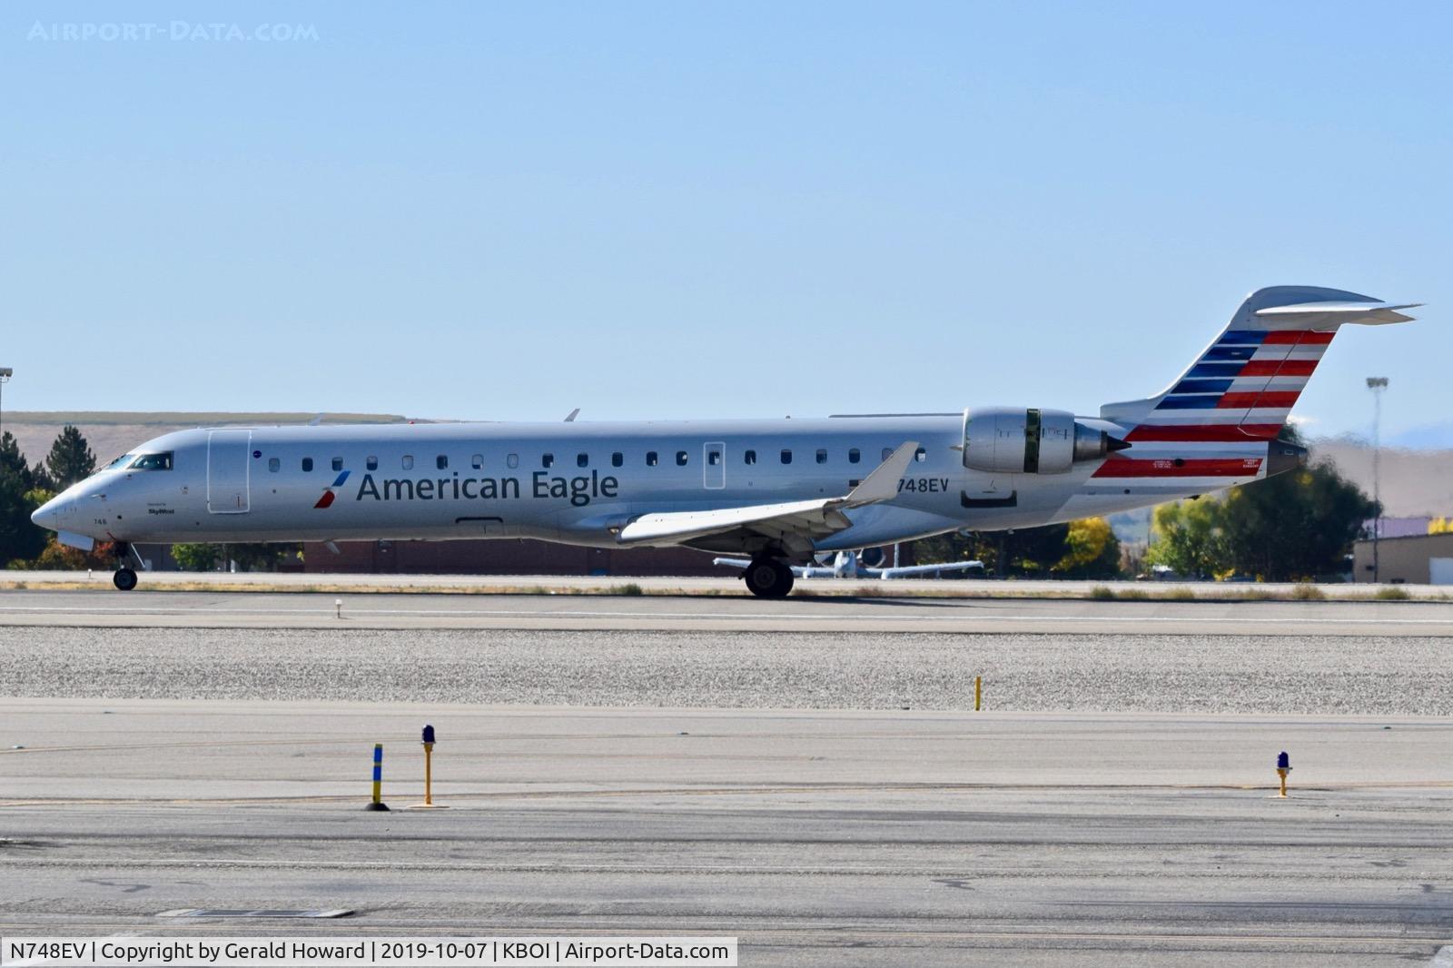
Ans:
[[[341,618],[340,618],[341,615]],[[1453,637],[1453,602],[0,590],[3,626]]]

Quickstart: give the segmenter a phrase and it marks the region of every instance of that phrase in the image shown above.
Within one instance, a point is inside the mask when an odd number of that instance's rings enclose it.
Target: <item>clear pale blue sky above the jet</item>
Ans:
[[[1447,416],[1447,4],[118,10],[0,9],[7,408],[1094,413],[1311,283]]]

